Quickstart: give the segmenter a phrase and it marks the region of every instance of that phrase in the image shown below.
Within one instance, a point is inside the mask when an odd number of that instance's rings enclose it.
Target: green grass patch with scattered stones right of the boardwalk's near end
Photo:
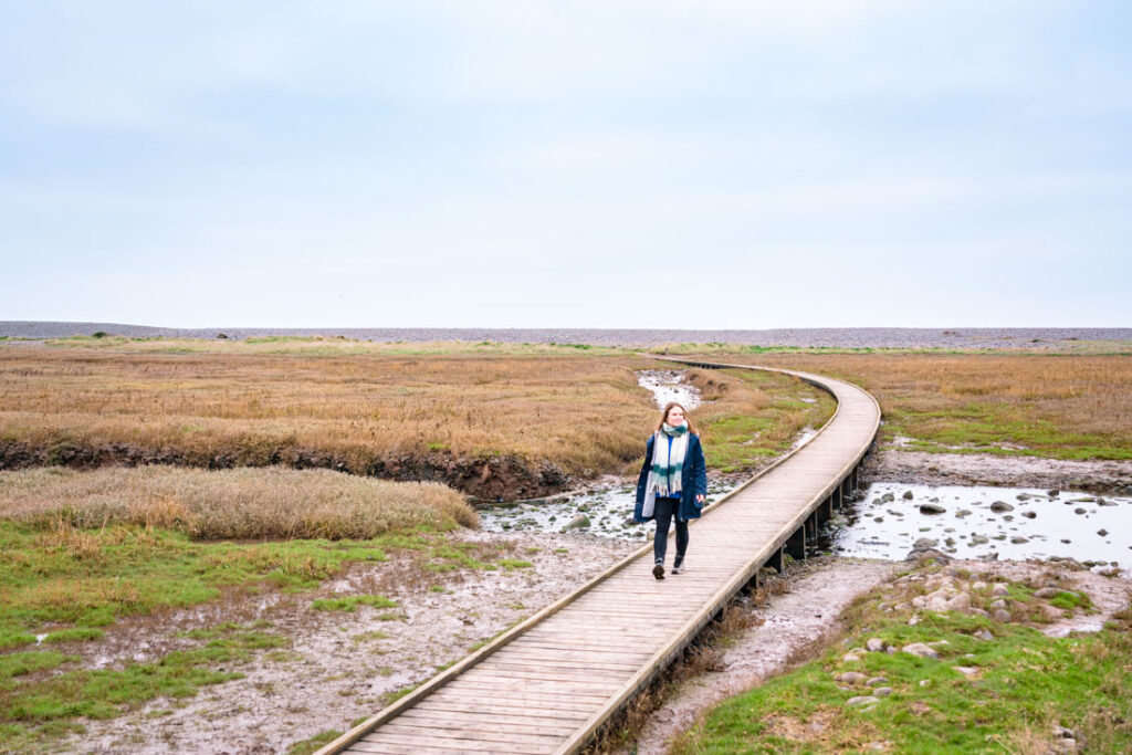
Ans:
[[[1027,585],[1011,585],[1026,594]],[[910,594],[910,593],[909,593]],[[816,660],[712,710],[681,738],[677,753],[1052,752],[1050,728],[1072,729],[1088,752],[1132,747],[1132,614],[1095,635],[1053,638],[1030,626],[994,624],[961,614],[926,612],[916,626],[903,610],[885,611],[908,594],[882,587],[842,616],[843,643]],[[976,632],[993,638],[979,640]],[[847,649],[869,637],[902,647],[938,643],[938,659]],[[955,667],[976,669],[970,677]],[[893,693],[872,709],[846,701],[865,687],[834,680],[854,670],[882,676]]]

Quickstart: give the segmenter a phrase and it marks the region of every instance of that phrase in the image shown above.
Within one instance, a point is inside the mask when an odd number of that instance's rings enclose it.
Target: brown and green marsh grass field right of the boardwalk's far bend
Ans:
[[[882,437],[934,451],[1132,458],[1132,357],[761,354],[736,361],[851,380],[884,412]]]

